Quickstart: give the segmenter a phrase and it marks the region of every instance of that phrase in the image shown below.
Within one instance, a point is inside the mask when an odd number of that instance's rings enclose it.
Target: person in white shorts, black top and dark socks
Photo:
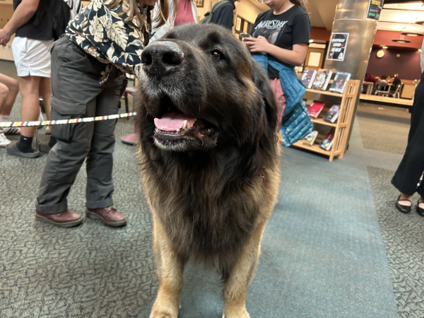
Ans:
[[[50,54],[47,50],[53,42],[53,21],[45,16],[37,19],[42,6],[52,8],[47,0],[13,0],[11,20],[0,29],[0,45],[6,45],[13,34],[12,52],[19,76],[22,95],[22,121],[36,121],[40,116],[39,95],[45,105],[47,119],[50,116]],[[35,126],[21,127],[20,139],[6,148],[9,155],[35,158],[40,151],[31,146]]]

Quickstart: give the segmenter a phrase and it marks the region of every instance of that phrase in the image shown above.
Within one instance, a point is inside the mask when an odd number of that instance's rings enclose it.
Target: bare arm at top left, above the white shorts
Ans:
[[[22,25],[27,23],[37,11],[40,0],[22,0],[15,12],[13,12],[11,20],[0,29],[0,45],[5,46],[10,40],[13,33]]]

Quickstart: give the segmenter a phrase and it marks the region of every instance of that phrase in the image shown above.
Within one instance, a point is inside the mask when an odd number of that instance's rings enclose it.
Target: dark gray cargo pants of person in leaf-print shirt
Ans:
[[[119,72],[100,85],[106,64],[88,56],[68,37],[52,45],[51,119],[73,119],[117,114],[124,83]],[[112,206],[114,128],[117,119],[81,124],[52,125],[57,144],[47,156],[36,207],[43,213],[61,213],[66,197],[86,160],[86,207]]]

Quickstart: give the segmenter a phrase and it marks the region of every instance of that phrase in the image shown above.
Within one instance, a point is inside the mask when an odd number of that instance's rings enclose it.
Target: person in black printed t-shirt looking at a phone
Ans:
[[[260,13],[252,28],[252,37],[243,42],[253,54],[268,54],[270,61],[300,66],[306,59],[310,40],[310,18],[304,0],[266,0],[271,10]],[[278,125],[285,109],[285,97],[278,71],[269,66],[268,75],[278,101]]]

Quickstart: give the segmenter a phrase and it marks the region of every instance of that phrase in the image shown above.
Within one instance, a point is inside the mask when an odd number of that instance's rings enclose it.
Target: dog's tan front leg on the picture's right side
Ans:
[[[259,260],[262,233],[265,225],[260,225],[249,237],[243,247],[240,257],[235,260],[224,284],[224,313],[225,318],[249,318],[245,300],[247,286],[252,280],[254,270]]]

